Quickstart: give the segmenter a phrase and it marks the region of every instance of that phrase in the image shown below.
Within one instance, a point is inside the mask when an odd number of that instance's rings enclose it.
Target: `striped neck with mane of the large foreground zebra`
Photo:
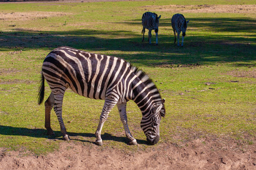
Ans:
[[[144,71],[135,67],[132,69],[137,76],[132,84],[132,92],[134,94],[132,100],[137,104],[142,115],[146,115],[153,109],[153,107],[162,104],[162,98],[155,84]],[[160,114],[163,117],[165,116],[164,107]]]

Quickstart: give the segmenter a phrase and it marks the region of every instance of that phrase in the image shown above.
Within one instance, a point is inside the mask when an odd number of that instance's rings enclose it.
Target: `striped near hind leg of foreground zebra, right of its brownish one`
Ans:
[[[61,133],[63,135],[63,140],[69,141],[70,138],[67,134],[66,127],[64,125],[63,119],[62,119],[62,102],[63,102],[63,97],[64,97],[64,92],[63,93],[58,93],[55,96],[55,104],[54,104],[54,111],[56,113],[56,116],[58,118],[60,128],[61,128]]]

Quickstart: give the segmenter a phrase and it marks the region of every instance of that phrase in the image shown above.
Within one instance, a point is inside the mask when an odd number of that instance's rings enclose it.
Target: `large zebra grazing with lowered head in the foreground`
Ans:
[[[50,125],[50,111],[54,107],[63,139],[69,140],[62,119],[62,103],[64,92],[70,87],[79,95],[105,100],[95,133],[96,144],[102,145],[101,129],[116,104],[129,144],[137,144],[128,128],[126,103],[129,100],[136,102],[142,112],[140,126],[147,141],[151,144],[159,141],[159,124],[161,117],[165,116],[165,99],[161,99],[155,84],[145,72],[132,67],[125,60],[59,47],[51,51],[43,62],[38,104],[44,100],[45,79],[52,91],[45,102],[47,134],[54,134]]]

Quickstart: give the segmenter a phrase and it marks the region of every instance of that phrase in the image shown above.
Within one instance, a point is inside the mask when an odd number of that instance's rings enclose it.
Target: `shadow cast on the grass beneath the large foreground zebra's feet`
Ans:
[[[40,137],[40,138],[46,138],[51,140],[62,140],[62,134],[60,131],[54,131],[55,135],[48,136],[47,130],[42,128],[27,128],[27,127],[11,127],[11,126],[3,126],[0,125],[0,135],[6,135],[6,136],[29,136],[29,137]],[[96,139],[95,134],[92,133],[76,133],[76,132],[68,132],[70,136],[70,140],[76,140],[81,142],[88,142],[93,143],[93,141],[86,140],[85,138],[93,138]],[[84,139],[81,139],[82,136]],[[123,142],[126,144],[129,144],[129,140],[125,136],[113,136],[109,133],[104,133],[101,135],[102,141],[116,141],[116,142]],[[137,139],[138,144],[146,144],[149,145],[149,143],[146,140],[140,140]]]

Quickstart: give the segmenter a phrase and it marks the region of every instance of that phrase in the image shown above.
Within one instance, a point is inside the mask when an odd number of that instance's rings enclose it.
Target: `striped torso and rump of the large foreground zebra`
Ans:
[[[79,95],[104,100],[131,70],[128,62],[117,57],[60,47],[46,56],[42,72],[52,88],[70,87]]]

